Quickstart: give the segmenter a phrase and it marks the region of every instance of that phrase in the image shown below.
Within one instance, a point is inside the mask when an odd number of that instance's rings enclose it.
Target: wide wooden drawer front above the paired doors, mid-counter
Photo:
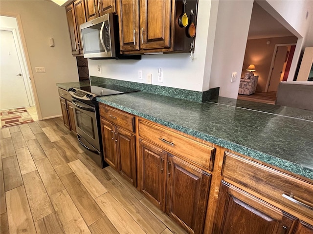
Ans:
[[[181,136],[165,128],[139,119],[139,136],[149,139],[163,149],[183,156],[190,161],[209,169],[213,169],[215,148]]]

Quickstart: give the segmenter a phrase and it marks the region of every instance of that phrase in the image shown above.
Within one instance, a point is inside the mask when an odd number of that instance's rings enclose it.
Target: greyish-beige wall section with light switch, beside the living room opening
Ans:
[[[219,2],[209,84],[220,87],[219,96],[238,96],[252,6],[253,0]],[[232,72],[237,72],[235,82],[230,82]]]

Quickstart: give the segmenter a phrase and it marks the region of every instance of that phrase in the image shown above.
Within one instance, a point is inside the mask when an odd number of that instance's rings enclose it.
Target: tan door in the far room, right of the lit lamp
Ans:
[[[288,47],[278,46],[274,61],[274,67],[269,79],[268,92],[277,91],[280,77],[283,73],[284,63],[287,56]]]

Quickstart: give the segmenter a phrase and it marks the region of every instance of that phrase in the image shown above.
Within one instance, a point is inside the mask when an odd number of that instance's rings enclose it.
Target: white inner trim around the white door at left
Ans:
[[[22,59],[22,53],[21,53],[21,48],[20,48],[20,44],[19,44],[19,40],[18,40],[18,35],[17,35],[17,32],[16,32],[16,29],[15,28],[3,28],[3,27],[0,27],[0,31],[12,32],[12,36],[13,36],[16,52],[17,52],[19,63],[20,63],[20,67],[21,67],[23,83],[24,83],[26,95],[27,95],[27,98],[28,98],[28,103],[29,103],[29,106],[33,106],[34,105],[33,91],[31,90],[30,82],[28,81],[29,75],[28,75],[28,71],[25,69],[25,64],[24,64],[24,61]]]

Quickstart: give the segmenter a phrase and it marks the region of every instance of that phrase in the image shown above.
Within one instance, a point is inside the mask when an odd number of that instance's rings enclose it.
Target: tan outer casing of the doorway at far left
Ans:
[[[10,13],[10,12],[1,12],[0,13],[1,16],[8,16],[8,17],[14,17],[16,18],[17,24],[18,24],[18,32],[17,36],[19,37],[20,35],[20,39],[22,42],[22,48],[21,49],[21,54],[22,57],[24,57],[24,61],[26,61],[25,68],[27,69],[27,74],[26,76],[29,77],[30,79],[30,85],[33,91],[33,98],[35,101],[35,107],[37,110],[37,115],[38,115],[38,119],[42,120],[42,114],[41,114],[41,108],[40,108],[40,103],[39,103],[39,99],[38,99],[38,95],[37,95],[37,89],[36,89],[36,84],[34,81],[34,75],[33,72],[31,70],[31,63],[30,63],[30,59],[29,59],[29,54],[28,54],[28,50],[27,50],[27,45],[26,45],[26,39],[24,36],[24,31],[23,31],[23,27],[22,27],[22,20],[21,20],[21,15],[20,14],[16,14],[16,13]],[[23,53],[22,53],[23,52]],[[29,76],[28,76],[29,75]]]

